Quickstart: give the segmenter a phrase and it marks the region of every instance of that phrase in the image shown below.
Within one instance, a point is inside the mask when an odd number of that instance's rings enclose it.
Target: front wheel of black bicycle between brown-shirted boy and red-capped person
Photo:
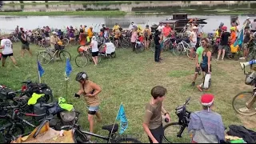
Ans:
[[[178,122],[169,123],[164,126],[164,141],[168,143],[190,143],[190,137],[186,129],[182,132],[182,138],[177,137],[177,134],[181,129],[182,125],[178,124]]]

